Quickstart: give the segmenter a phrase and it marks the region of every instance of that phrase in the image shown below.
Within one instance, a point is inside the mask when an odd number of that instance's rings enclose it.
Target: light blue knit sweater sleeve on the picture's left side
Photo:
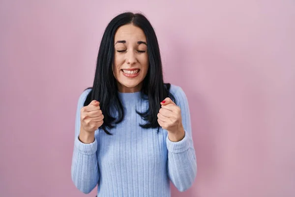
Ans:
[[[83,193],[89,194],[97,185],[99,170],[97,162],[97,139],[85,144],[79,140],[81,108],[90,90],[84,91],[79,99],[75,120],[74,151],[71,165],[71,178],[74,185]]]

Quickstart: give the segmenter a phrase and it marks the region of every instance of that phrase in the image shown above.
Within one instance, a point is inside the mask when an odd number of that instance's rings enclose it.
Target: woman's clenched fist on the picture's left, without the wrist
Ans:
[[[99,102],[92,100],[89,105],[81,109],[81,129],[87,132],[96,131],[103,124],[103,114]]]

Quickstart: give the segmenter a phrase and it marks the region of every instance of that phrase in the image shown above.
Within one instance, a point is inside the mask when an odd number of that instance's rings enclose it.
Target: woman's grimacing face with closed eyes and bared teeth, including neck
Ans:
[[[147,38],[142,29],[129,24],[115,34],[114,76],[119,92],[138,92],[148,72]]]

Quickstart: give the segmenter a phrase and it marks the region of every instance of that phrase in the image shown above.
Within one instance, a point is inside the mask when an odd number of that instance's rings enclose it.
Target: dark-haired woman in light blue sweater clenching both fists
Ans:
[[[164,84],[156,34],[122,13],[103,34],[93,87],[79,100],[71,174],[98,197],[170,197],[191,187],[197,163],[186,96]]]

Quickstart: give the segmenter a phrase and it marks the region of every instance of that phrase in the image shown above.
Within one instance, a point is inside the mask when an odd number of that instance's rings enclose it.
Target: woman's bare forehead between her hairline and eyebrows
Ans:
[[[118,40],[126,40],[126,42],[137,42],[147,41],[147,38],[142,29],[132,24],[128,24],[118,28],[115,34],[115,42]]]

